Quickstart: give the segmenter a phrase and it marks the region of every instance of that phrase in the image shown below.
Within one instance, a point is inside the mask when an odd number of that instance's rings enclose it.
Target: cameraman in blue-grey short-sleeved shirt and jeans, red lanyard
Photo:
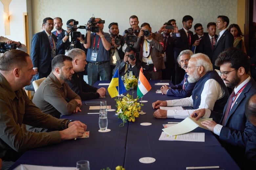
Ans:
[[[87,43],[84,43],[84,47],[88,49],[86,61],[88,84],[91,86],[99,76],[101,80],[111,80],[109,50],[112,39],[108,33],[103,32],[104,23],[100,18],[92,17],[86,26]]]

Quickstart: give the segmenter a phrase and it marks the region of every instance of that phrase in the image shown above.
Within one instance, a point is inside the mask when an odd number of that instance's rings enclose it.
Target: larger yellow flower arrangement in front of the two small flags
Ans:
[[[115,99],[117,102],[117,113],[118,118],[122,119],[123,123],[121,123],[119,126],[123,127],[124,124],[127,122],[135,122],[135,118],[139,117],[139,111],[141,109],[141,106],[143,104],[140,104],[137,102],[139,98],[133,98],[133,95],[127,94],[122,99]]]

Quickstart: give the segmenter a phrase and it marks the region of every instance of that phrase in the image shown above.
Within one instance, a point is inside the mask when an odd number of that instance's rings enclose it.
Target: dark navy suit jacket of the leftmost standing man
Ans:
[[[52,34],[55,46],[57,37]],[[57,55],[57,51],[56,51]],[[33,35],[31,44],[31,59],[33,67],[38,68],[39,73],[46,73],[52,64],[52,50],[49,38],[45,31]]]

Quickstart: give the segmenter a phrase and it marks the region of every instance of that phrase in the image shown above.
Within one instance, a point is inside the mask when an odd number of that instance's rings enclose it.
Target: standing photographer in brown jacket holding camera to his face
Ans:
[[[143,23],[134,48],[140,51],[139,60],[143,67],[143,74],[148,80],[162,79],[162,69],[165,68],[161,53],[163,46],[162,35],[152,33],[150,25]]]

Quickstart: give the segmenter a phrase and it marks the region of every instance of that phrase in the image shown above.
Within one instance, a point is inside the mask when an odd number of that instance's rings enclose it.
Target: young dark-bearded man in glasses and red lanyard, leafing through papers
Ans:
[[[219,55],[215,65],[220,67],[221,77],[226,85],[235,89],[224,107],[223,114],[200,109],[193,112],[191,116],[199,119],[206,112],[210,112],[210,117],[214,121],[204,121],[202,125],[219,136],[221,144],[243,169],[246,142],[253,131],[256,131],[256,127],[246,119],[245,103],[251,95],[256,93],[256,83],[248,75],[249,58],[240,49],[228,48]],[[197,116],[194,113],[197,113]]]

